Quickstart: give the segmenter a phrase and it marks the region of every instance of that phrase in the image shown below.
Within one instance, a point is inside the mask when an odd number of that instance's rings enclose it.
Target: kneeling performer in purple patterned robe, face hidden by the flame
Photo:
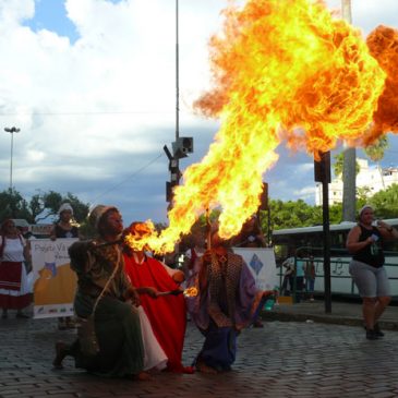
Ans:
[[[217,227],[210,237],[212,249],[201,258],[200,268],[188,280],[198,294],[186,300],[188,311],[205,336],[195,360],[204,373],[229,371],[236,360],[237,336],[251,325],[272,291],[257,290],[242,256],[229,250]]]

